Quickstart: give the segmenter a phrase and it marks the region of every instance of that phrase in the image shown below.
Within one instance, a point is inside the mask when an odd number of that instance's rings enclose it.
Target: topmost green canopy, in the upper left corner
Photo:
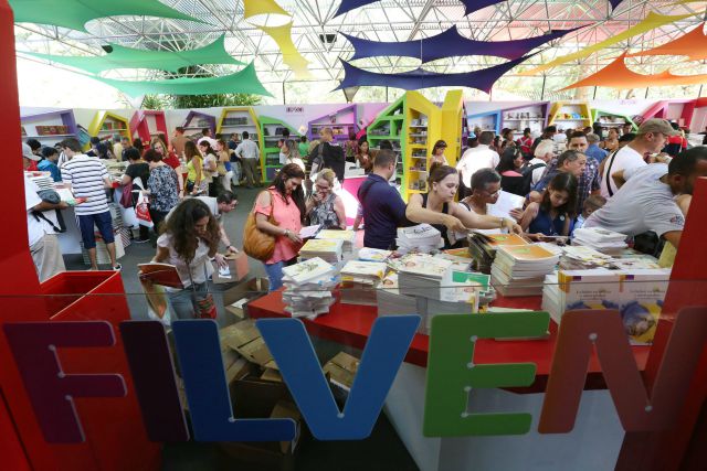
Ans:
[[[18,23],[52,24],[86,31],[96,18],[133,15],[199,21],[158,0],[9,0]],[[201,21],[199,21],[201,22]]]

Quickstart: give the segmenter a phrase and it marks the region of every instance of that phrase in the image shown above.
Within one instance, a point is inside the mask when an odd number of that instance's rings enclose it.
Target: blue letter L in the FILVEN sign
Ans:
[[[292,419],[235,419],[212,320],[172,322],[197,441],[291,441]]]

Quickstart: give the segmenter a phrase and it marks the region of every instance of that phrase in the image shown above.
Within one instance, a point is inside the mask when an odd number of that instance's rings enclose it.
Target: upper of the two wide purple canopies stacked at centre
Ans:
[[[356,52],[349,61],[366,57],[404,56],[421,60],[423,63],[437,58],[457,57],[465,55],[493,55],[514,60],[523,57],[534,49],[562,38],[577,31],[572,30],[550,31],[547,34],[535,38],[511,41],[475,41],[463,36],[456,26],[452,26],[441,34],[415,41],[379,42],[362,40],[341,33],[352,45]]]

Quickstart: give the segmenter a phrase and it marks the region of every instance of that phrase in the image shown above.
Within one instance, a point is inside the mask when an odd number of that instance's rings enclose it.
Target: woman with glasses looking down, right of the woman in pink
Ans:
[[[346,210],[344,200],[334,193],[336,174],[324,169],[317,174],[314,193],[307,200],[309,225],[319,224],[323,229],[346,229]]]

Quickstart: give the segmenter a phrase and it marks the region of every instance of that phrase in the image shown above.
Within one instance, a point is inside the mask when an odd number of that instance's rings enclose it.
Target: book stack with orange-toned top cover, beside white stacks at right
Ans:
[[[545,276],[559,255],[537,245],[500,247],[492,266],[492,283],[505,297],[540,296]]]

